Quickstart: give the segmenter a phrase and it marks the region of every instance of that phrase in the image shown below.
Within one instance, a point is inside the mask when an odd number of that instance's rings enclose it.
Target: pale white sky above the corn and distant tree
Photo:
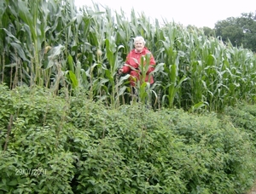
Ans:
[[[91,6],[91,0],[74,0],[77,6]],[[256,11],[256,0],[94,0],[99,6],[118,11],[123,9],[127,17],[130,17],[131,9],[136,13],[167,21],[174,21],[183,26],[193,25],[197,27],[208,26],[214,28],[218,20],[226,20],[228,17],[239,17],[241,13]],[[101,6],[100,6],[101,7]],[[104,10],[104,9],[102,9]]]

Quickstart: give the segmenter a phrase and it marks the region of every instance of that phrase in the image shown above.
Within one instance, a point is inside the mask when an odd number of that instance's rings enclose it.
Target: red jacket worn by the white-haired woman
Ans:
[[[145,56],[146,54],[151,54],[151,52],[148,50],[148,48],[144,47],[143,51],[141,53],[136,52],[136,50],[134,48],[134,49],[131,50],[131,52],[126,57],[125,64],[127,64],[129,66],[123,66],[123,72],[124,73],[130,73],[130,75],[131,75],[131,77],[130,77],[131,86],[135,86],[135,82],[140,77],[138,67],[139,67],[139,64],[141,62],[141,57]],[[148,74],[150,72],[154,71],[155,60],[154,60],[153,54],[150,55],[149,64],[153,65],[153,66],[149,66],[148,72],[147,72],[146,77],[145,77],[145,82],[148,82]],[[134,69],[137,69],[137,70],[132,70],[130,66],[132,66]],[[150,84],[154,83],[154,77],[152,75],[150,75],[149,83]]]

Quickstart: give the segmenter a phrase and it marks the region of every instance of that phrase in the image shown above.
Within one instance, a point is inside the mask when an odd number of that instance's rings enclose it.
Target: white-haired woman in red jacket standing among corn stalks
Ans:
[[[149,67],[148,71],[146,73],[145,82],[148,82],[151,84],[154,83],[154,77],[150,75],[148,80],[148,74],[152,71],[154,71],[155,66],[155,60],[154,56],[151,54],[151,52],[148,50],[148,48],[145,47],[145,40],[143,37],[135,37],[134,38],[134,47],[131,52],[127,55],[125,60],[125,66],[119,69],[120,73],[129,73],[130,76],[130,83],[131,86],[135,86],[137,80],[140,78],[140,70],[139,66],[141,63],[141,58],[145,56],[146,54],[150,54],[150,60],[149,60]]]

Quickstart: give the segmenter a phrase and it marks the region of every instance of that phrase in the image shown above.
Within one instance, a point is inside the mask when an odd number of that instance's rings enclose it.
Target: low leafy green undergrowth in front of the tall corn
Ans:
[[[254,110],[109,108],[0,85],[0,193],[242,193],[256,174]]]

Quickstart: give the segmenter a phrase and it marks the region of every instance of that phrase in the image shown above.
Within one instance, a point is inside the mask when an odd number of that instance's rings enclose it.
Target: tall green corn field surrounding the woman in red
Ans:
[[[129,75],[117,72],[140,35],[157,66],[156,82],[140,84],[139,98],[154,108],[221,111],[256,100],[256,55],[200,29],[72,0],[3,0],[0,9],[0,83],[9,88],[85,89],[91,100],[129,104]]]

